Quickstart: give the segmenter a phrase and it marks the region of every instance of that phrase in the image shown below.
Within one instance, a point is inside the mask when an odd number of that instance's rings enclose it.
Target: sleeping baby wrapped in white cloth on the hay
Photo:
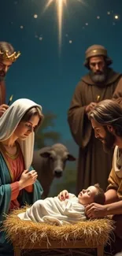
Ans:
[[[25,212],[18,214],[18,217],[24,221],[75,224],[78,221],[86,221],[85,206],[91,202],[102,205],[105,203],[104,191],[98,184],[83,189],[78,197],[64,190],[54,198],[38,200]]]

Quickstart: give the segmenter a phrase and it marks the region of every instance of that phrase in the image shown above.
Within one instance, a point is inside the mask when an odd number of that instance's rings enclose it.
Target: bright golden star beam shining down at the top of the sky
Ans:
[[[57,20],[58,20],[58,43],[61,49],[61,33],[62,33],[62,17],[63,17],[63,8],[66,6],[67,0],[47,0],[45,10],[51,5],[52,2],[56,2],[57,5]]]

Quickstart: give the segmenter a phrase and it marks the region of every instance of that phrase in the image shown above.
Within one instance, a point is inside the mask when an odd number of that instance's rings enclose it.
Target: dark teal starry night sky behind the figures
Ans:
[[[54,130],[70,140],[67,110],[76,84],[87,72],[87,47],[105,46],[113,68],[122,72],[122,1],[66,0],[60,51],[56,0],[44,12],[47,2],[1,1],[0,40],[21,52],[6,77],[7,99],[31,98],[44,113],[57,114]]]

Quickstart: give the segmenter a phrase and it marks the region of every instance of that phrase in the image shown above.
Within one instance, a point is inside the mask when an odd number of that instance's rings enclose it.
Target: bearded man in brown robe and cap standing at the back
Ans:
[[[93,45],[86,51],[85,67],[89,69],[76,86],[68,109],[68,124],[79,146],[76,192],[99,183],[105,189],[112,166],[113,150],[106,154],[102,143],[94,137],[88,115],[98,102],[115,98],[121,102],[122,74],[109,68],[112,60],[104,46]]]

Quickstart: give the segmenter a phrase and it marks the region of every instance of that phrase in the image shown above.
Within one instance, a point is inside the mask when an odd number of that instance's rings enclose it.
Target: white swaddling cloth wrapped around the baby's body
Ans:
[[[18,217],[24,221],[57,225],[86,221],[84,206],[79,203],[79,199],[73,194],[69,194],[69,198],[65,201],[60,201],[57,196],[38,200],[24,213],[18,214]]]

